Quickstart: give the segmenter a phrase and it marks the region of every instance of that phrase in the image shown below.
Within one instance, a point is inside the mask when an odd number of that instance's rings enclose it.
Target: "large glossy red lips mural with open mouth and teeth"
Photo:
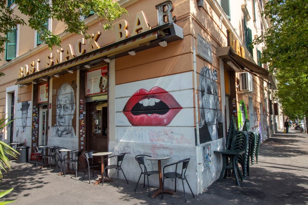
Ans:
[[[174,97],[160,87],[140,89],[129,98],[123,113],[133,126],[166,126],[182,109]]]

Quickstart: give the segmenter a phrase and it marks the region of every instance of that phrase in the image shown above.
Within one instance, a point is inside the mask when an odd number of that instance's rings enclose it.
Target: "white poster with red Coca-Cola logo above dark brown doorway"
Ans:
[[[105,93],[108,91],[108,73],[107,66],[90,70],[86,73],[87,95]]]

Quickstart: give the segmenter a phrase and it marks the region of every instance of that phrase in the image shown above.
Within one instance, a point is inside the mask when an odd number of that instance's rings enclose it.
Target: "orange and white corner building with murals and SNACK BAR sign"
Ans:
[[[46,26],[60,48],[48,50],[27,26],[8,35],[15,47],[8,43],[1,56],[0,112],[17,119],[2,140],[26,142],[31,152],[39,144],[126,152],[132,181],[138,154],[172,156],[166,164],[190,158],[188,181],[202,193],[219,177],[213,151],[225,148],[231,115],[238,129],[249,119],[262,141],[282,126],[274,77],[259,62],[264,45],[249,46],[270,26],[261,15],[266,2],[118,2],[129,15],[113,30],[96,14],[84,19],[90,40],[52,19]]]

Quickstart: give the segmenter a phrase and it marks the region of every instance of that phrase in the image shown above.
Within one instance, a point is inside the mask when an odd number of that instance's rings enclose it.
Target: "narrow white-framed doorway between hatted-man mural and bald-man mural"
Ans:
[[[39,144],[47,145],[47,105],[39,107]]]

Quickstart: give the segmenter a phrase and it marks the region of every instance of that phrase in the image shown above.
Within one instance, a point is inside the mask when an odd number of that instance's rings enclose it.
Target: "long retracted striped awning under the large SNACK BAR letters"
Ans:
[[[52,76],[55,73],[65,71],[73,66],[94,61],[102,57],[120,57],[128,55],[127,51],[131,49],[135,49],[136,51],[149,49],[158,46],[159,42],[165,39],[168,42],[183,39],[183,29],[175,23],[166,23],[146,32],[128,37],[122,41],[103,46],[89,53],[80,55],[79,57],[75,57],[68,61],[64,61],[49,68],[45,68],[25,77],[19,78],[17,79],[15,85],[31,83],[33,80],[38,78]]]

